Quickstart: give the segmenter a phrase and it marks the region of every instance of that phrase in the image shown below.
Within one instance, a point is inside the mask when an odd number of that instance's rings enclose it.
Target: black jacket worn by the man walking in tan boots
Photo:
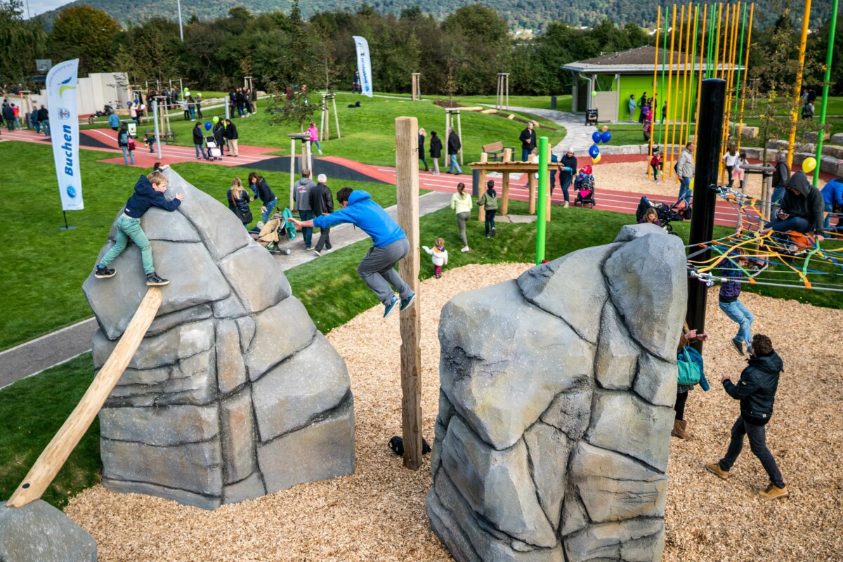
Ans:
[[[740,400],[740,415],[755,426],[764,426],[773,415],[779,373],[784,364],[776,351],[763,357],[750,356],[749,365],[740,373],[738,384],[723,381],[723,388],[733,399]]]

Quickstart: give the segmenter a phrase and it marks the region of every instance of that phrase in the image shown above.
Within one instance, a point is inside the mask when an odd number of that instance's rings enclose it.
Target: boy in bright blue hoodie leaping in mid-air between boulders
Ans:
[[[395,271],[395,264],[410,252],[410,243],[401,227],[392,220],[382,206],[372,201],[372,195],[363,190],[343,187],[336,192],[336,201],[342,207],[330,215],[322,215],[310,221],[292,219],[298,227],[334,227],[350,222],[372,237],[372,247],[360,265],[357,275],[368,285],[380,302],[384,303],[384,318],[389,316],[398,298],[389,286],[395,287],[401,298],[400,310],[410,306],[416,293]]]

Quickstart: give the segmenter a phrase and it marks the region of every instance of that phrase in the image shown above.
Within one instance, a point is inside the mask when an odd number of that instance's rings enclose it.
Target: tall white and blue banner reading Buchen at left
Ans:
[[[50,136],[56,163],[62,211],[81,211],[82,176],[79,174],[79,115],[76,83],[79,59],[56,64],[47,74]]]

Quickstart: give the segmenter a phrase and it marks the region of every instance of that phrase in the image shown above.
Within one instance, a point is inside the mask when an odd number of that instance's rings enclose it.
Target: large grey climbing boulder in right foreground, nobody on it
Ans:
[[[661,559],[685,249],[652,225],[454,297],[427,514],[463,561]]]

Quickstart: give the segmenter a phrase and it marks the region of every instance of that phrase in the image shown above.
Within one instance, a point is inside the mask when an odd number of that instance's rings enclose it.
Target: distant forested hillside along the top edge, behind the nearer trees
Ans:
[[[760,0],[755,6],[755,21],[764,26],[771,23],[788,0]],[[812,27],[819,27],[831,15],[832,0],[814,0],[811,10]],[[422,12],[429,12],[438,19],[454,12],[460,6],[473,3],[472,0],[439,0],[436,3],[416,3]],[[658,3],[642,0],[485,0],[486,6],[494,8],[507,20],[510,29],[543,29],[546,22],[561,21],[571,25],[592,26],[604,18],[623,24],[634,22],[642,27],[653,27],[656,23]],[[76,0],[67,6],[87,4],[110,13],[121,24],[130,25],[155,16],[177,19],[176,0],[158,0],[137,2],[136,0]],[[300,4],[303,16],[309,18],[319,11],[348,9],[357,11],[364,4],[363,0],[322,0],[321,2],[303,2]],[[395,13],[410,8],[413,3],[406,0],[373,0],[370,6],[380,13]],[[791,1],[797,12],[793,19],[801,19],[802,3]],[[193,16],[199,19],[214,19],[228,14],[230,8],[243,6],[239,0],[181,0],[181,13],[185,22]],[[289,0],[250,0],[244,5],[250,12],[271,12],[291,8]],[[62,8],[43,14],[51,22]]]

